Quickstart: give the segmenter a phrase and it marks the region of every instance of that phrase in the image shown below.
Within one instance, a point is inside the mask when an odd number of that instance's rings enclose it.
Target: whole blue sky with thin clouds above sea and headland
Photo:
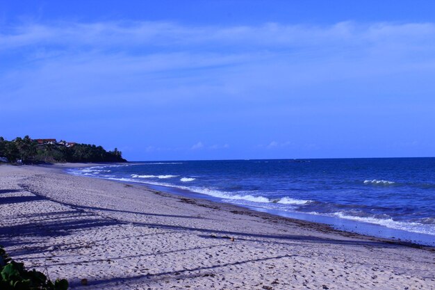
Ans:
[[[2,1],[0,136],[133,161],[434,156],[434,8]]]

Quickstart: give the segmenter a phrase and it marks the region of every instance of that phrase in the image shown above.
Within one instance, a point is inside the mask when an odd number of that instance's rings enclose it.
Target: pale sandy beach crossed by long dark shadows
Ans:
[[[433,248],[67,166],[0,166],[0,244],[71,289],[435,289]]]

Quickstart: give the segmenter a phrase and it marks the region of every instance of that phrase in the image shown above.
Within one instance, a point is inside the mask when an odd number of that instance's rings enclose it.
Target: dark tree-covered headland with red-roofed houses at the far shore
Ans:
[[[38,143],[29,136],[5,140],[0,137],[0,157],[10,162],[125,162],[116,148],[106,151],[101,146],[60,142]]]

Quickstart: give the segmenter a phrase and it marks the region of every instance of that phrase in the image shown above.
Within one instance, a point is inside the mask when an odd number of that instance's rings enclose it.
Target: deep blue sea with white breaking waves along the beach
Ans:
[[[136,162],[69,172],[435,245],[435,158]]]

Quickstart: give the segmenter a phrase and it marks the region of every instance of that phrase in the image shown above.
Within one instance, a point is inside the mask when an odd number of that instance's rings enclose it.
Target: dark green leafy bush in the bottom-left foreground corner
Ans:
[[[57,279],[54,283],[38,271],[27,271],[24,264],[10,259],[0,245],[0,289],[2,290],[67,290],[68,282]]]

